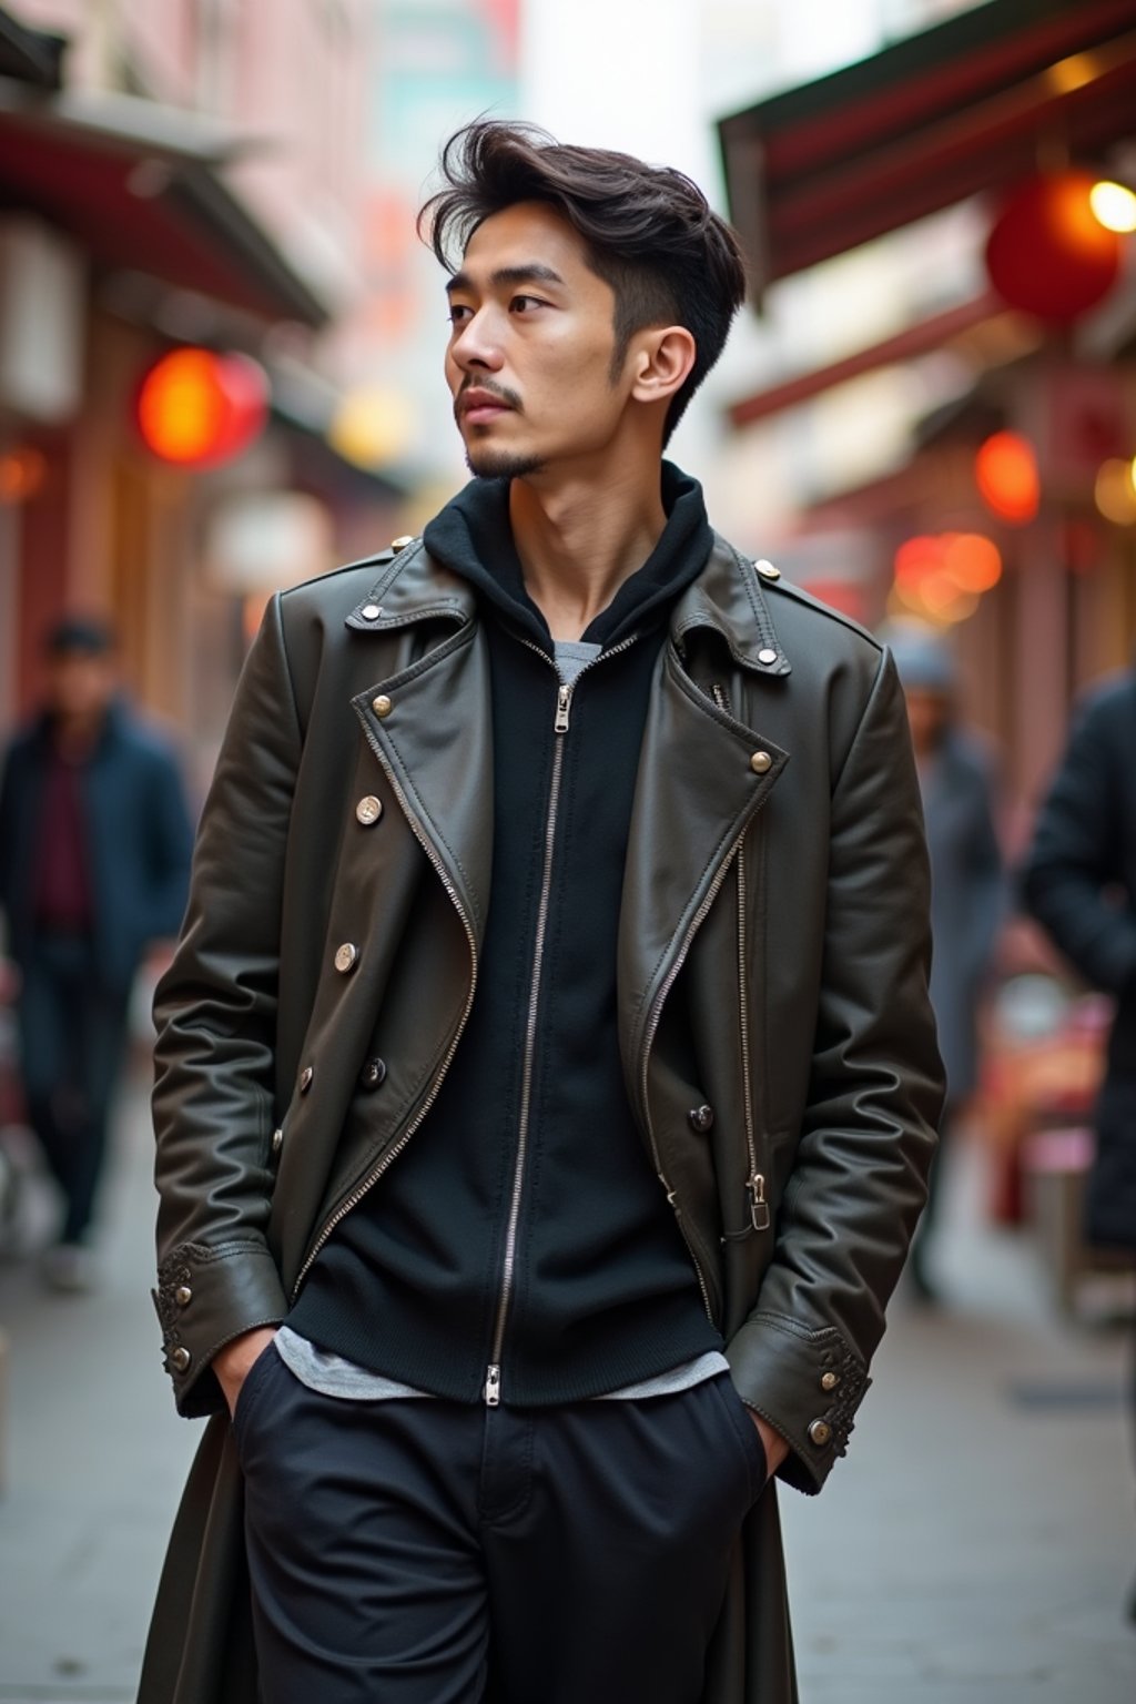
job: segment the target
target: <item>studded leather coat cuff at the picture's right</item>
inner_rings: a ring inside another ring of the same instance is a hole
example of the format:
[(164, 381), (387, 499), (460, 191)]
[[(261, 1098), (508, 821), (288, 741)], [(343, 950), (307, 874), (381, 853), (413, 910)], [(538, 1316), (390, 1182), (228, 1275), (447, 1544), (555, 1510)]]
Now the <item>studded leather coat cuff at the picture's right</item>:
[(743, 1401), (790, 1445), (778, 1477), (819, 1491), (848, 1450), (872, 1382), (860, 1356), (835, 1326), (811, 1331), (783, 1314), (758, 1312), (727, 1343), (726, 1358)]

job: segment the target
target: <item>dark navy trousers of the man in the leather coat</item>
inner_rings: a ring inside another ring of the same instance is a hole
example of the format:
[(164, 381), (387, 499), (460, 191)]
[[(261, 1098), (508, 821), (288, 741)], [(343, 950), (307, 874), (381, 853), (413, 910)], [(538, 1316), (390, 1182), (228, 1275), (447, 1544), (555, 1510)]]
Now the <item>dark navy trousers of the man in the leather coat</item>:
[(729, 1377), (550, 1409), (237, 1402), (262, 1704), (698, 1704), (761, 1438)]

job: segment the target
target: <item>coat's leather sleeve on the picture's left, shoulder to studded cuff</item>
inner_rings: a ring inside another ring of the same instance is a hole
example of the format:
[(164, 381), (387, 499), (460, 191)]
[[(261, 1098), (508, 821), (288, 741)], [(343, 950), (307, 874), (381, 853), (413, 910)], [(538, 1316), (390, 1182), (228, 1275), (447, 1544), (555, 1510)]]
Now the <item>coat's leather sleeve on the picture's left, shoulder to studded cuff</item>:
[(249, 653), (155, 995), (165, 1367), (182, 1414), (223, 1406), (213, 1355), (286, 1312), (266, 1242), (284, 849), (300, 760), (279, 598)]

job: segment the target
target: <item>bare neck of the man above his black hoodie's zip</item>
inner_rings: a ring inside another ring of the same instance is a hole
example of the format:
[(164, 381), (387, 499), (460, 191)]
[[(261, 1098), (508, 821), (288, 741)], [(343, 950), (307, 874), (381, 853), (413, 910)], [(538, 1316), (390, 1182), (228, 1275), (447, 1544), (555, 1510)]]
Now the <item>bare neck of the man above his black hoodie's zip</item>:
[(513, 542), (525, 590), (554, 639), (576, 641), (635, 574), (666, 527), (659, 463), (649, 477), (514, 479)]

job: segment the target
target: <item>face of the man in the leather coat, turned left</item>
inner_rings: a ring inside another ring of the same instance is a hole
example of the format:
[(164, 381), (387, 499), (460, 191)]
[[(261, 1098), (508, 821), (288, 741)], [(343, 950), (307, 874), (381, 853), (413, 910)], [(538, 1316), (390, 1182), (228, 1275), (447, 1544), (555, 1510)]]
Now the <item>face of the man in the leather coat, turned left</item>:
[(521, 479), (603, 457), (630, 360), (613, 377), (615, 291), (567, 220), (540, 201), (496, 213), (446, 288), (446, 382), (470, 472)]

